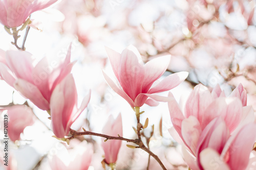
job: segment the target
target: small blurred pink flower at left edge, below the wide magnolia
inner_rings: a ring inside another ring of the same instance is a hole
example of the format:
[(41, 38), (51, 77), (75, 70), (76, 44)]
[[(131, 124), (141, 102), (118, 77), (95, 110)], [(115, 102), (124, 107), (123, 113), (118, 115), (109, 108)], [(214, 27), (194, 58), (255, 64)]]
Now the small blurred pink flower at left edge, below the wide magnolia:
[(8, 115), (8, 136), (12, 141), (20, 139), (20, 133), (27, 126), (34, 124), (34, 113), (26, 105), (14, 105), (0, 109), (0, 112), (7, 110)]

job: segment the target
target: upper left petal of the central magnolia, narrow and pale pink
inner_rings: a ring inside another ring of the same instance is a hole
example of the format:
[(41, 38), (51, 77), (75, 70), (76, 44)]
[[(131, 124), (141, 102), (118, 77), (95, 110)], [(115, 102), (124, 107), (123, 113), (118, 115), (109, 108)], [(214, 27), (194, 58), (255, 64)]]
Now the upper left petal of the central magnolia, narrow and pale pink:
[(112, 50), (106, 46), (105, 46), (105, 50), (109, 56), (110, 64), (113, 68), (116, 78), (119, 81), (119, 65), (120, 65), (120, 61), (121, 61), (121, 54), (115, 52), (114, 50)]

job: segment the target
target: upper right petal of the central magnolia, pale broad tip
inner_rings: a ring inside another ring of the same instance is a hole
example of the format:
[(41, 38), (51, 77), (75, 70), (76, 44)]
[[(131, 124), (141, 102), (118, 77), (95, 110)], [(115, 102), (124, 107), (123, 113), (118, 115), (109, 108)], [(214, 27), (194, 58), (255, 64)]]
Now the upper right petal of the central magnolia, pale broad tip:
[(170, 62), (170, 55), (157, 57), (144, 65), (145, 78), (142, 85), (142, 93), (147, 93), (152, 84), (165, 72)]

